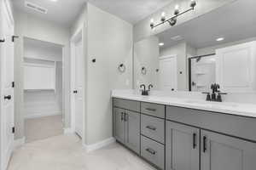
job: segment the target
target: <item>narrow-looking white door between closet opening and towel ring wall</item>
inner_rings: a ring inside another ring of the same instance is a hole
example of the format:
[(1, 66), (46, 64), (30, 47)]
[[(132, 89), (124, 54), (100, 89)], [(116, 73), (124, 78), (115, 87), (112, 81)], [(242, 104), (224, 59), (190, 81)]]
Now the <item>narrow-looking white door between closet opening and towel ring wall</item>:
[(75, 132), (83, 132), (83, 48), (82, 41), (75, 43)]

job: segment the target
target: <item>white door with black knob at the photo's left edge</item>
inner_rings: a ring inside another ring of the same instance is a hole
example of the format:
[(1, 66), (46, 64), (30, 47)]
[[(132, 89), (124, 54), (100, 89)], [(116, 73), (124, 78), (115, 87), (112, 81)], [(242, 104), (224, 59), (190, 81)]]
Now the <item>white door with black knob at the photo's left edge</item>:
[[(3, 2), (3, 1), (1, 1)], [(5, 2), (6, 3), (6, 2)], [(1, 169), (5, 170), (11, 156), (14, 143), (14, 25), (11, 13), (6, 4), (0, 5), (1, 13), (1, 35), (4, 42), (0, 42), (0, 86), (1, 86)]]

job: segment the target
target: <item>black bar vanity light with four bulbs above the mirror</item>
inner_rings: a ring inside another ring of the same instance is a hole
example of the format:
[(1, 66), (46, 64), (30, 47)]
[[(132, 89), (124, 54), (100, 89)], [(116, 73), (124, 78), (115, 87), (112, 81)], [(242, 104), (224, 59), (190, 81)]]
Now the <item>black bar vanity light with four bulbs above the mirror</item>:
[(187, 10), (185, 10), (185, 11), (183, 11), (182, 13), (180, 13), (180, 11), (179, 11), (179, 5), (176, 5), (176, 6), (175, 6), (175, 9), (174, 9), (174, 16), (172, 16), (170, 19), (167, 19), (167, 20), (166, 20), (166, 13), (163, 12), (163, 13), (161, 14), (160, 23), (158, 23), (158, 24), (155, 25), (155, 24), (154, 24), (154, 19), (151, 19), (151, 20), (150, 20), (150, 27), (151, 27), (151, 29), (154, 29), (154, 28), (157, 27), (157, 26), (160, 26), (160, 25), (162, 25), (162, 24), (165, 24), (166, 22), (168, 22), (168, 23), (170, 24), (170, 26), (175, 26), (176, 23), (177, 23), (177, 17), (179, 17), (179, 16), (181, 16), (181, 15), (183, 15), (183, 14), (186, 14), (186, 13), (188, 13), (188, 12), (191, 11), (191, 10), (194, 10), (194, 9), (195, 9), (195, 5), (196, 5), (195, 0), (191, 0), (191, 2), (190, 2), (190, 8), (187, 9)]

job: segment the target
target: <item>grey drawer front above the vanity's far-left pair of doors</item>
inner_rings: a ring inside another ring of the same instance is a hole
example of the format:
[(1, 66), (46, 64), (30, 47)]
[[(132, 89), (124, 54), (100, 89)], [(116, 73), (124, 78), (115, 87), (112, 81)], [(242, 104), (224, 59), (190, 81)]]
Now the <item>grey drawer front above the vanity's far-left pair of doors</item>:
[(140, 102), (129, 99), (113, 98), (113, 106), (123, 108), (130, 111), (140, 111)]

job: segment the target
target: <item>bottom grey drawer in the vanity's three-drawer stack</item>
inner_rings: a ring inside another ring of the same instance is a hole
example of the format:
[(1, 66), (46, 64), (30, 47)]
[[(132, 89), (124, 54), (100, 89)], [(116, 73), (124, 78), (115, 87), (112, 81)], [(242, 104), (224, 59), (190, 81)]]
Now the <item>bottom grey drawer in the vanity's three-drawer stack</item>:
[(141, 136), (141, 156), (160, 169), (165, 169), (165, 146)]

